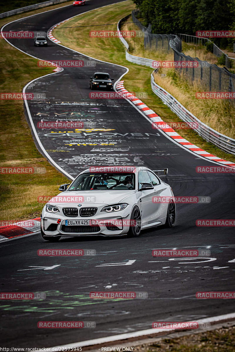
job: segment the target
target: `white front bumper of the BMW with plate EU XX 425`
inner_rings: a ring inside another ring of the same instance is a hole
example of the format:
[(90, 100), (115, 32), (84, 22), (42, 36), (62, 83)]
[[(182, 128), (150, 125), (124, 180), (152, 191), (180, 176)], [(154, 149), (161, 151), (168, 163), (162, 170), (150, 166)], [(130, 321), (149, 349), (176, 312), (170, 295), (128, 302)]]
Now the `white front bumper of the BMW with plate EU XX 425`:
[[(103, 205), (104, 206), (104, 205)], [(125, 209), (116, 213), (98, 212), (94, 216), (88, 217), (68, 217), (62, 212), (48, 213), (44, 209), (41, 215), (41, 225), (43, 233), (46, 236), (117, 236), (124, 235), (129, 231), (131, 206), (128, 205)], [(58, 219), (61, 220), (57, 224)], [(93, 226), (76, 225), (76, 220), (91, 219)], [(65, 225), (66, 220), (72, 220), (74, 225)], [(108, 221), (108, 224), (105, 224)]]

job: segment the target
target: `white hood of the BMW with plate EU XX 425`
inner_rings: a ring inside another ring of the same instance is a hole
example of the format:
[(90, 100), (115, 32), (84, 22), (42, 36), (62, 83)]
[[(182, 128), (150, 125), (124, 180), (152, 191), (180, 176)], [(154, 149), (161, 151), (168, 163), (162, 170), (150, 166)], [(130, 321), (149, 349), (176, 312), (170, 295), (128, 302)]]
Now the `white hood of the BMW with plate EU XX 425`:
[[(51, 205), (61, 206), (78, 206), (79, 203), (82, 205), (92, 206), (93, 204), (111, 205), (120, 203), (124, 198), (135, 194), (135, 190), (97, 190), (97, 191), (64, 191), (54, 196), (48, 202)], [(77, 197), (76, 199), (71, 199)], [(80, 197), (80, 199), (78, 198)], [(83, 198), (82, 198), (83, 197)], [(87, 200), (90, 197), (90, 201)], [(84, 200), (83, 200), (84, 199)], [(66, 201), (67, 200), (67, 201)], [(71, 200), (71, 201), (70, 201)]]

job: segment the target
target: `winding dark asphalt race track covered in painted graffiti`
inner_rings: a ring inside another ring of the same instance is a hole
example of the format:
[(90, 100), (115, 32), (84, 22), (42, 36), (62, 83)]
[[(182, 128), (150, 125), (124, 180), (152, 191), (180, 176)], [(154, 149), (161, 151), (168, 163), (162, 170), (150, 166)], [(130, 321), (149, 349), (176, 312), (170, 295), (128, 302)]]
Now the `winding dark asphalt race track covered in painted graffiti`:
[[(19, 20), (4, 30), (48, 29), (76, 13), (110, 3), (113, 0), (98, 3), (91, 0), (81, 8), (65, 7)], [(52, 42), (47, 48), (36, 48), (30, 40), (11, 42), (41, 59), (87, 59)], [(125, 68), (97, 61), (95, 71), (110, 72), (117, 80), (125, 73)], [(196, 166), (215, 164), (157, 133), (126, 100), (91, 101), (88, 83), (93, 72), (94, 69), (65, 68), (40, 78), (26, 90), (44, 92), (50, 98), (47, 102), (29, 102), (35, 126), (40, 121), (38, 117), (41, 118), (38, 112), (49, 112), (49, 116), (42, 116), (50, 121), (56, 121), (58, 115), (55, 113), (74, 112), (79, 120), (95, 121), (99, 128), (113, 129), (111, 135), (97, 131), (87, 136), (73, 131), (74, 134), (61, 133), (61, 136), (54, 134), (52, 137), (51, 130), (37, 130), (53, 160), (72, 177), (90, 165), (168, 167), (169, 174), (162, 179), (171, 184), (176, 196), (210, 196), (211, 202), (177, 205), (174, 228), (146, 230), (138, 238), (64, 238), (53, 244), (44, 242), (41, 234), (36, 233), (2, 243), (1, 291), (43, 291), (47, 294), (47, 299), (40, 301), (1, 302), (1, 344), (4, 347), (50, 347), (149, 329), (154, 321), (196, 321), (234, 311), (231, 299), (200, 300), (195, 297), (197, 291), (235, 291), (235, 262), (229, 262), (235, 258), (233, 227), (195, 225), (197, 219), (234, 219), (234, 176), (197, 174)], [(69, 103), (64, 105), (62, 102)], [(68, 115), (60, 116), (68, 118)], [(77, 145), (82, 144), (81, 141), (116, 144)], [(151, 255), (153, 249), (183, 247), (210, 249), (210, 258), (171, 260), (173, 258), (153, 258)], [(95, 249), (97, 255), (81, 258), (37, 255), (38, 249), (64, 248)], [(127, 265), (129, 260), (134, 262)], [(59, 266), (50, 270), (34, 268), (54, 265)], [(94, 290), (147, 291), (148, 299), (93, 300), (89, 298), (89, 292)], [(38, 321), (52, 320), (95, 321), (96, 328), (38, 329)]]

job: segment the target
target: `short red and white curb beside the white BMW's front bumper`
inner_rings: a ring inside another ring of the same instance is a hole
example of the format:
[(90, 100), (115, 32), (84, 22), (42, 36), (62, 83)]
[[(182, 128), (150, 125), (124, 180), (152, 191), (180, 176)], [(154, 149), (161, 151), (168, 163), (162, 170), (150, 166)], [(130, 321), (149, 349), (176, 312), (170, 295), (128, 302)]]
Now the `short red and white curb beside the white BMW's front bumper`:
[(0, 241), (37, 232), (40, 230), (40, 221), (40, 218), (35, 218), (0, 226)]

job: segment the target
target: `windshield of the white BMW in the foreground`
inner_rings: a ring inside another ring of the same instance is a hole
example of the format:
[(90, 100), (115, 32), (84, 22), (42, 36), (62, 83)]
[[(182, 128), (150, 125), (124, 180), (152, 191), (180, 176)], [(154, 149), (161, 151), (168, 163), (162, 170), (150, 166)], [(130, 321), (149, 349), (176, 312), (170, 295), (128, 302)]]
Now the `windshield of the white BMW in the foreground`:
[(135, 174), (82, 174), (68, 188), (68, 191), (88, 190), (131, 190), (135, 186)]

